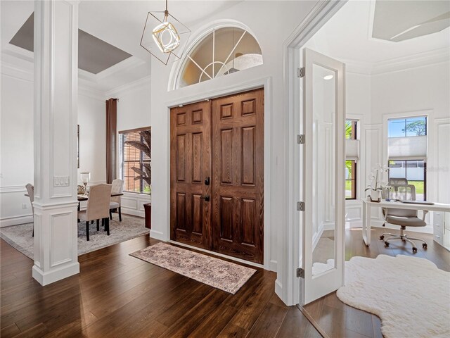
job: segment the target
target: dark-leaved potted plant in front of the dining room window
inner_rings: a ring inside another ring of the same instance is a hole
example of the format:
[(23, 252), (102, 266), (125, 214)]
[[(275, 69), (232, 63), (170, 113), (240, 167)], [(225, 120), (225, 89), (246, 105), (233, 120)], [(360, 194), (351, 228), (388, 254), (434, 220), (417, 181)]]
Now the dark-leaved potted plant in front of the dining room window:
[[(125, 141), (125, 144), (129, 144), (130, 146), (134, 146), (134, 148), (140, 150), (145, 154), (148, 158), (152, 158), (152, 150), (151, 150), (151, 136), (152, 133), (150, 130), (142, 130), (139, 132), (143, 141)], [(142, 168), (131, 167), (136, 174), (134, 180), (144, 180), (148, 184), (148, 194), (152, 193), (152, 168), (150, 163), (142, 163)], [(152, 214), (152, 204), (146, 203), (143, 205), (144, 211), (146, 213), (146, 227), (151, 228), (151, 214)]]

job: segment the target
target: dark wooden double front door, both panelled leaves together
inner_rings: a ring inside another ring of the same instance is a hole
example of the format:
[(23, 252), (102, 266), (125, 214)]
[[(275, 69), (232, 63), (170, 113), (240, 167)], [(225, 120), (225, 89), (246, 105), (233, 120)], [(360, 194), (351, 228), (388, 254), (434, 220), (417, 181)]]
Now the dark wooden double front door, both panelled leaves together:
[(264, 89), (172, 108), (171, 239), (263, 263)]

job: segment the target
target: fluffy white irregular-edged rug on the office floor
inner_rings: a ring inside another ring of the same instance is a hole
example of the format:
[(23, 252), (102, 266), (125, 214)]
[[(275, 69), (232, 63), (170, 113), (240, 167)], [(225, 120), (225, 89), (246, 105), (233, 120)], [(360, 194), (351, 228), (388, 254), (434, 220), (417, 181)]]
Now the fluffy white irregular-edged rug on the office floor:
[(450, 337), (450, 273), (424, 258), (353, 257), (337, 295), (378, 315), (385, 338)]

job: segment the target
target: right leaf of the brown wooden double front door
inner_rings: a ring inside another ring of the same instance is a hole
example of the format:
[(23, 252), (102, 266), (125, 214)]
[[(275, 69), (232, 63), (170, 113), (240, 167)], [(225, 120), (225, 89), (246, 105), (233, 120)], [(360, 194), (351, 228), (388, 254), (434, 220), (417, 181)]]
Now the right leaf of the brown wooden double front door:
[(212, 247), (263, 262), (264, 89), (212, 101)]

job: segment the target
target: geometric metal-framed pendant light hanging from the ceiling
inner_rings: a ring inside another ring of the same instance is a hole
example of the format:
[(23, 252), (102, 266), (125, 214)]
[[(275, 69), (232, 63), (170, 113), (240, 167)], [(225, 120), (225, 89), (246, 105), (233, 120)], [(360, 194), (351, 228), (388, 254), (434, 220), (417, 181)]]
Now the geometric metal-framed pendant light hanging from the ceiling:
[(169, 14), (166, 0), (165, 11), (148, 12), (141, 46), (167, 65), (171, 55), (172, 59), (181, 58), (189, 35), (191, 30)]

